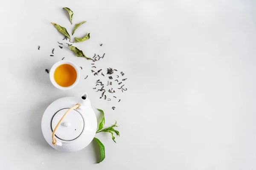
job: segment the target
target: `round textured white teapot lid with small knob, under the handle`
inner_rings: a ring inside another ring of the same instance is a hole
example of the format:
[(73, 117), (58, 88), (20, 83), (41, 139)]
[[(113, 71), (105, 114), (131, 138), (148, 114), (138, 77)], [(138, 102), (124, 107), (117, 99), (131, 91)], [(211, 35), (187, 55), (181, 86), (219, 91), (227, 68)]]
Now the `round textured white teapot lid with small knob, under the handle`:
[[(61, 109), (52, 118), (52, 130), (56, 127), (59, 120), (67, 112), (68, 108)], [(55, 136), (65, 141), (71, 141), (78, 138), (84, 129), (84, 119), (81, 114), (72, 110), (65, 117), (61, 125), (58, 127)]]

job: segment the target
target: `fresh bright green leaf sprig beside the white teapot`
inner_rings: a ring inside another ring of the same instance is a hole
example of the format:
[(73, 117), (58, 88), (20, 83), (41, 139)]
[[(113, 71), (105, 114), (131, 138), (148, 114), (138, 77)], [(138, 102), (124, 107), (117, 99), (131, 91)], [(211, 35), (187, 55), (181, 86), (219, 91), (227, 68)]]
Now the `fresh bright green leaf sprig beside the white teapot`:
[[(116, 126), (116, 123), (115, 123), (113, 126), (103, 129), (103, 127), (105, 125), (105, 114), (104, 114), (104, 111), (102, 111), (101, 109), (97, 109), (97, 110), (103, 114), (103, 117), (102, 117), (102, 121), (99, 123), (99, 128), (96, 131), (96, 133), (109, 132), (112, 135), (112, 140), (116, 143), (115, 136), (113, 135), (113, 133), (116, 133), (117, 136), (120, 136), (119, 131), (114, 129), (114, 127), (118, 127), (118, 126)], [(102, 144), (102, 142), (100, 142), (99, 139), (97, 139), (95, 137), (94, 137), (94, 139), (98, 142), (99, 147), (100, 147), (101, 159), (99, 162), (96, 162), (96, 163), (100, 163), (101, 161), (103, 161), (105, 159), (105, 146), (104, 146), (104, 144)]]

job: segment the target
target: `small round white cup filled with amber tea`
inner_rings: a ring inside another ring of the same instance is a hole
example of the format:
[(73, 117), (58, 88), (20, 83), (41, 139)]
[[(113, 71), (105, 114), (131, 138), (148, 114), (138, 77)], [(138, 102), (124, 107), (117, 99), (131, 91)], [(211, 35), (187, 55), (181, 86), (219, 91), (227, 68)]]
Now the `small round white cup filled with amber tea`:
[(61, 90), (73, 88), (79, 81), (79, 68), (71, 61), (56, 62), (49, 73), (52, 85)]

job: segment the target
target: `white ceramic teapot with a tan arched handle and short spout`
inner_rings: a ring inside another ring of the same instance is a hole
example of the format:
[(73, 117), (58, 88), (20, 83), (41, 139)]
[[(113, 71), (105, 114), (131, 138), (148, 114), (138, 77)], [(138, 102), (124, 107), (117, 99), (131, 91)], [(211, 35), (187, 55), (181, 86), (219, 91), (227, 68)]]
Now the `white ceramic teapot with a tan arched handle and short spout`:
[(56, 150), (75, 152), (86, 147), (97, 130), (88, 95), (63, 97), (52, 102), (44, 112), (41, 127), (45, 140)]

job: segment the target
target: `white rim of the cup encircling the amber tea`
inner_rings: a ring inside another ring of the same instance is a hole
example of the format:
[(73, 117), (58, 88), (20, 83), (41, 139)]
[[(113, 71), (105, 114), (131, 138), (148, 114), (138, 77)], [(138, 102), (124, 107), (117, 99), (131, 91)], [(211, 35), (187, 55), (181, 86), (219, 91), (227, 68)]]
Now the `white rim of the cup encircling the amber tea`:
[[(58, 66), (63, 65), (63, 64), (72, 65), (73, 68), (75, 68), (75, 70), (76, 70), (76, 81), (73, 83), (73, 85), (70, 85), (69, 87), (62, 87), (62, 86), (58, 85), (54, 79), (54, 72), (55, 72), (56, 68), (58, 68)], [(74, 62), (71, 62), (68, 60), (61, 60), (61, 61), (56, 62), (54, 65), (52, 65), (52, 68), (50, 69), (50, 72), (49, 72), (49, 77), (52, 82), (52, 85), (54, 85), (55, 88), (58, 88), (61, 90), (69, 90), (69, 89), (75, 87), (76, 84), (78, 83), (79, 78), (80, 78), (80, 72), (79, 72), (79, 68), (77, 67), (77, 65)]]

